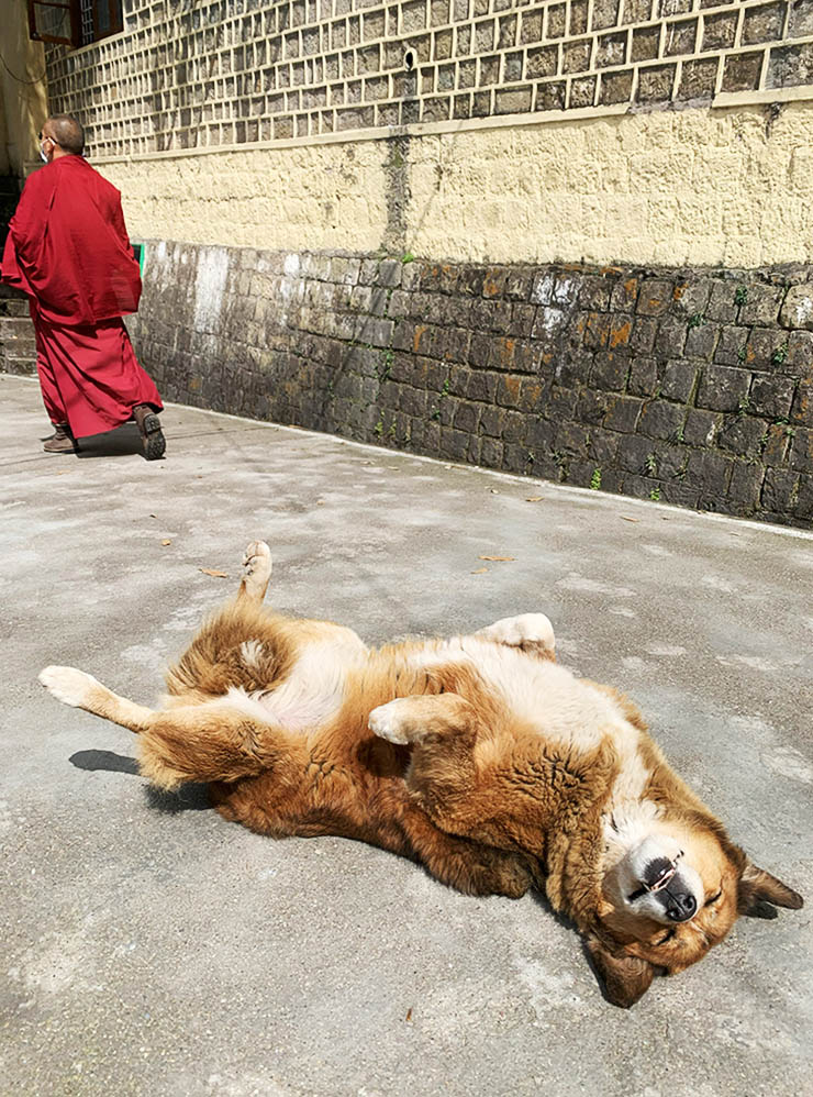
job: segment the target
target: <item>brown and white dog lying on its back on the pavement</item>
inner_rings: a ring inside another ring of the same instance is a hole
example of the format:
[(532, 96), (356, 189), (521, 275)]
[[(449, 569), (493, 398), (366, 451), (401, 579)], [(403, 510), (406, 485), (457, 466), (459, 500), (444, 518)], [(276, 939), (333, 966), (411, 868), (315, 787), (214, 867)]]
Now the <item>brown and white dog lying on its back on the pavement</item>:
[(469, 894), (539, 886), (619, 1006), (702, 959), (738, 915), (802, 906), (672, 773), (634, 705), (556, 664), (543, 614), (371, 650), (265, 610), (270, 574), (254, 542), (236, 599), (169, 669), (163, 709), (71, 667), (40, 680), (136, 732), (154, 784), (208, 782), (252, 830), (360, 839)]

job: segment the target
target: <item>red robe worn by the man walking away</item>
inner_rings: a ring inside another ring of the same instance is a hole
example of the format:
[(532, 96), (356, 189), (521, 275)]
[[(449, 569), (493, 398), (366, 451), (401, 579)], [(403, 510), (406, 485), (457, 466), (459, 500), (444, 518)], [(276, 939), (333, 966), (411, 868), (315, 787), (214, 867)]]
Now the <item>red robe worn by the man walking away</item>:
[(53, 423), (86, 437), (119, 426), (137, 405), (163, 409), (121, 319), (141, 297), (121, 196), (81, 156), (60, 156), (29, 177), (0, 278), (29, 295)]

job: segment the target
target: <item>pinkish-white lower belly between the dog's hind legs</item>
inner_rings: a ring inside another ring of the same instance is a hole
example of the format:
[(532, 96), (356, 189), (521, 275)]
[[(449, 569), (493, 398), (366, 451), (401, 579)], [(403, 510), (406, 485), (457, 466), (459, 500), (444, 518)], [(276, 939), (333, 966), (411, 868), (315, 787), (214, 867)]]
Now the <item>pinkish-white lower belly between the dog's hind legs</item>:
[(226, 698), (255, 719), (304, 734), (338, 713), (348, 672), (363, 665), (366, 655), (367, 649), (353, 633), (346, 641), (331, 638), (309, 644), (278, 686), (253, 692), (232, 688)]

